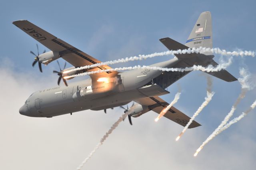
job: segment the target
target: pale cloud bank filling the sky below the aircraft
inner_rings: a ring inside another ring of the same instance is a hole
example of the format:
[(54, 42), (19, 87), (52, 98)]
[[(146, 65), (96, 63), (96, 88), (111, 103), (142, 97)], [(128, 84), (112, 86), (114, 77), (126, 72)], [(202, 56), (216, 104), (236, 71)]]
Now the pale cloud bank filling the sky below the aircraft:
[[(33, 77), (32, 73), (17, 73), (8, 65), (2, 65), (0, 71), (0, 169), (75, 169), (123, 113), (115, 108), (108, 114), (88, 110), (50, 119), (25, 117), (18, 109), (26, 98), (37, 89), (55, 86), (56, 77)], [(218, 103), (212, 105), (211, 109), (218, 107)], [(238, 170), (256, 166), (254, 132), (242, 128), (252, 125), (253, 119), (246, 117), (237, 123), (239, 130), (236, 126), (226, 130), (195, 159), (194, 150), (210, 133), (208, 123), (188, 130), (177, 143), (175, 137), (182, 127), (164, 118), (155, 123), (155, 117), (156, 113), (150, 111), (133, 119), (133, 126), (128, 120), (120, 123), (83, 169)]]

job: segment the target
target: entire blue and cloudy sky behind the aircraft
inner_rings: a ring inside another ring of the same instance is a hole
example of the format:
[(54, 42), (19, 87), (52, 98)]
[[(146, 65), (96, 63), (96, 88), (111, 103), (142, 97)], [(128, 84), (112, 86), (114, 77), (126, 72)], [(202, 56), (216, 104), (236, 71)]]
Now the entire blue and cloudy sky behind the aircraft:
[[(100, 138), (120, 117), (123, 110), (81, 111), (47, 118), (25, 117), (18, 113), (28, 96), (39, 89), (53, 87), (58, 76), (56, 62), (32, 67), (30, 50), (36, 52), (36, 41), (12, 24), (29, 20), (54, 36), (92, 55), (100, 61), (166, 51), (160, 38), (170, 37), (185, 43), (201, 12), (212, 13), (213, 46), (233, 51), (256, 50), (256, 11), (254, 0), (238, 1), (4, 1), (0, 6), (0, 169), (70, 170), (88, 156)], [(44, 49), (41, 44), (40, 52)], [(111, 65), (126, 67), (150, 65), (173, 56), (155, 57)], [(215, 55), (218, 62), (220, 55)], [(225, 57), (225, 56), (224, 56)], [(64, 60), (59, 59), (61, 65)], [(239, 77), (239, 68), (246, 68), (256, 80), (255, 58), (234, 57), (227, 70)], [(71, 65), (68, 64), (71, 67)], [(174, 106), (192, 116), (206, 97), (206, 74), (193, 71), (172, 86), (174, 99), (178, 84), (182, 94)], [(77, 77), (78, 81), (88, 77)], [(234, 124), (194, 158), (200, 144), (218, 127), (240, 93), (238, 81), (227, 83), (213, 77), (212, 101), (196, 117), (202, 126), (189, 129), (180, 141), (175, 138), (183, 127), (150, 111), (141, 117), (120, 123), (100, 146), (84, 169), (198, 169), (240, 170), (256, 166), (255, 111)], [(240, 115), (256, 99), (256, 91), (247, 93), (234, 116)]]

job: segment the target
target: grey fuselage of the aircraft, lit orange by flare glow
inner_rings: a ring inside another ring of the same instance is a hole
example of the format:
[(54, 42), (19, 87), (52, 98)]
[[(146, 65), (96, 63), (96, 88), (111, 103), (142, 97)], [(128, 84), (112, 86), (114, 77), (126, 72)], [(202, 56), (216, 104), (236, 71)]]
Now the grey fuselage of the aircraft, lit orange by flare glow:
[[(151, 66), (170, 68), (178, 62), (178, 58), (174, 57)], [(118, 73), (118, 81), (105, 83), (89, 78), (69, 83), (68, 87), (63, 85), (43, 89), (28, 97), (20, 113), (30, 117), (54, 117), (87, 109), (102, 110), (125, 105), (135, 99), (150, 97), (140, 93), (138, 88), (162, 73), (159, 70), (134, 69)]]

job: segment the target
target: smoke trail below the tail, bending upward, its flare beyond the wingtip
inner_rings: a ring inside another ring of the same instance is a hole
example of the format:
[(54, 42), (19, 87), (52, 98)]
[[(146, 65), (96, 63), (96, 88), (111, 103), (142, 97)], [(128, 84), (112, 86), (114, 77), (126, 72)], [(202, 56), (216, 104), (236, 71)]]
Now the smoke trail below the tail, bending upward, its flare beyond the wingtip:
[(212, 97), (214, 95), (214, 92), (212, 92), (212, 79), (210, 76), (207, 76), (207, 97), (205, 97), (205, 101), (202, 103), (202, 105), (197, 109), (197, 111), (194, 113), (194, 115), (191, 117), (187, 125), (184, 127), (182, 132), (179, 134), (179, 136), (176, 138), (176, 141), (180, 139), (182, 134), (186, 132), (188, 127), (191, 125), (191, 123), (194, 121), (194, 119), (199, 115), (199, 113), (208, 105), (208, 103), (212, 100)]

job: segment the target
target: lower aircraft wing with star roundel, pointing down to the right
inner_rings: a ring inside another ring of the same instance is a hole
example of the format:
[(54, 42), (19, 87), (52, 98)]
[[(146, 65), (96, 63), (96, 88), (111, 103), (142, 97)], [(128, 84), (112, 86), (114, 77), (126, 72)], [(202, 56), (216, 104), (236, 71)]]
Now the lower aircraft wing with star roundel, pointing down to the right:
[[(161, 111), (169, 105), (169, 103), (167, 103), (160, 97), (147, 97), (134, 101), (136, 103), (139, 103), (140, 105), (148, 106), (148, 109), (158, 114), (160, 114)], [(173, 106), (166, 112), (164, 117), (170, 119), (171, 121), (174, 121), (175, 123), (178, 123), (179, 125), (182, 125), (183, 127), (185, 127), (190, 120), (190, 117), (188, 117), (187, 115), (185, 115)], [(201, 126), (199, 123), (193, 121), (188, 128), (195, 128), (199, 126)]]

